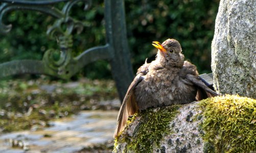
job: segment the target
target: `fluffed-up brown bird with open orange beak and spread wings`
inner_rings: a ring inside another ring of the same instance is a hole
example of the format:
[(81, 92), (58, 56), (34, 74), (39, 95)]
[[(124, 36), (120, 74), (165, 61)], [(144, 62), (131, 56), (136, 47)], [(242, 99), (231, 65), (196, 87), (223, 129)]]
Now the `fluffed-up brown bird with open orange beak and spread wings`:
[(146, 59), (138, 68), (120, 107), (113, 138), (124, 130), (128, 117), (139, 111), (219, 95), (199, 79), (195, 65), (184, 61), (177, 40), (153, 41), (152, 45), (158, 49), (156, 59), (151, 63)]

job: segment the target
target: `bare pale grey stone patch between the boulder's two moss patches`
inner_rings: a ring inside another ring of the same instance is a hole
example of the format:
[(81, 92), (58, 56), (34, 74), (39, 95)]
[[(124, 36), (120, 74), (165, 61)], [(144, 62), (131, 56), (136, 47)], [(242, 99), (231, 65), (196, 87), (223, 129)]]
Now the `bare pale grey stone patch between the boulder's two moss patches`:
[(180, 114), (170, 122), (173, 133), (164, 137), (161, 150), (165, 150), (165, 152), (202, 152), (204, 143), (202, 143), (201, 131), (198, 126), (202, 122), (202, 118), (195, 117), (201, 113), (196, 104), (198, 102), (179, 109)]

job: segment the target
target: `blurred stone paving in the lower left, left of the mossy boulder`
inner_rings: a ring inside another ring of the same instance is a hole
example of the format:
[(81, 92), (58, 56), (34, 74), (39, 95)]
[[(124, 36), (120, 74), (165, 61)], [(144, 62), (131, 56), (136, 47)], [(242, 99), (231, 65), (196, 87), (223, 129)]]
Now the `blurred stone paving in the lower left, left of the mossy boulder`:
[(81, 111), (78, 115), (51, 121), (51, 127), (40, 131), (2, 134), (0, 152), (78, 152), (111, 142), (117, 115), (116, 110)]

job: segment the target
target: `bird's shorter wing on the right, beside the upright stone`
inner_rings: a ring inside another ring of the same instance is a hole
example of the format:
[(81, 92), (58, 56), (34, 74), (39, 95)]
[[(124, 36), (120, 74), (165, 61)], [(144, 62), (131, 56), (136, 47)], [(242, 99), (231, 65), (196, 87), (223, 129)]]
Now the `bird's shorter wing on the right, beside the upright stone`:
[(197, 88), (197, 100), (201, 100), (207, 97), (214, 97), (218, 96), (219, 94), (207, 87), (200, 79), (198, 76), (192, 75), (192, 74), (187, 74), (185, 77), (187, 80), (192, 82)]

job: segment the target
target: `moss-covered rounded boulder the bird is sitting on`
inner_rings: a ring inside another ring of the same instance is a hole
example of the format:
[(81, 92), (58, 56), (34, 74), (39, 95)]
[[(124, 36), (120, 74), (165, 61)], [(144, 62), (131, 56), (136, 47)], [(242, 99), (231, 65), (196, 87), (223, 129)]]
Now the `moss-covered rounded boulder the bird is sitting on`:
[(238, 95), (148, 109), (133, 117), (113, 152), (256, 150), (256, 100)]

